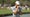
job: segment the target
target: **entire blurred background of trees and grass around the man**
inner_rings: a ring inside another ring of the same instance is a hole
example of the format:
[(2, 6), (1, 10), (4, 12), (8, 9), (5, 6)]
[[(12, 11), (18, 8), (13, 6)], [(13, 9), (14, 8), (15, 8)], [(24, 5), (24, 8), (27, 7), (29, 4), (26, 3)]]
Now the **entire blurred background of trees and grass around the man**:
[[(0, 16), (12, 15), (12, 10), (10, 7), (13, 7), (15, 5), (15, 1), (17, 0), (0, 0)], [(20, 1), (20, 6), (22, 6), (23, 14), (30, 16), (30, 0), (18, 1)]]

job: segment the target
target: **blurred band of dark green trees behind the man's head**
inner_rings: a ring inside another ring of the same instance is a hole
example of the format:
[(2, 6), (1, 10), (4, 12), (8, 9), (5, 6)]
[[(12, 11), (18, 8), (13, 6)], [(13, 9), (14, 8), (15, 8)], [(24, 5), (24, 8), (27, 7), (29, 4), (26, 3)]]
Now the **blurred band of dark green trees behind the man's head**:
[[(4, 4), (4, 6), (14, 6), (15, 1), (17, 1), (17, 0), (0, 0), (0, 4), (1, 4), (0, 6), (3, 6), (2, 4)], [(30, 6), (30, 0), (18, 0), (18, 1), (20, 1), (22, 6), (25, 4)]]

